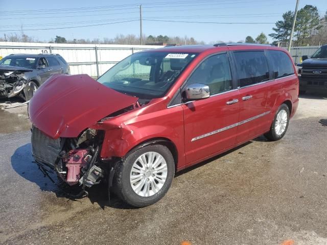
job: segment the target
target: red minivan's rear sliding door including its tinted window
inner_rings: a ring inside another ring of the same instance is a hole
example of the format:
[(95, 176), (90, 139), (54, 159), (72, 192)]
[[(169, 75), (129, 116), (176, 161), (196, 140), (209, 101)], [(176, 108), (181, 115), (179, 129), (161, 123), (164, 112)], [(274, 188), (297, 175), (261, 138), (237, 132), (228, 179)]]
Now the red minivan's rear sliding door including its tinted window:
[(252, 139), (269, 129), (267, 108), (270, 74), (265, 52), (234, 51), (240, 92), (240, 118), (237, 143)]

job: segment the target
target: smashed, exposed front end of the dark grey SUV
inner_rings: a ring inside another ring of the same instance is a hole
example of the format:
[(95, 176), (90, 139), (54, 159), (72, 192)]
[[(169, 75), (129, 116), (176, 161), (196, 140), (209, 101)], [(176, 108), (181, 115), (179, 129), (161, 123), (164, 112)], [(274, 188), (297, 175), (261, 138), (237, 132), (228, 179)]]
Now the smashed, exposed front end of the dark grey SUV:
[(0, 67), (0, 97), (11, 98), (21, 95), (26, 100), (26, 95), (22, 93), (24, 93), (23, 90), (28, 84), (28, 81), (24, 78), (27, 71), (32, 70)]

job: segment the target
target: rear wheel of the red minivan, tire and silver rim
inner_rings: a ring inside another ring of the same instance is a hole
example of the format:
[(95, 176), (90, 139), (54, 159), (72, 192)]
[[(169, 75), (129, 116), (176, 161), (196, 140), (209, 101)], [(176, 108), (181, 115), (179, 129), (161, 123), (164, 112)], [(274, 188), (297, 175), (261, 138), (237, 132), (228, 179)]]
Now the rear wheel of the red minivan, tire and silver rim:
[(274, 120), (271, 124), (270, 131), (265, 134), (266, 138), (276, 141), (284, 137), (290, 122), (290, 110), (286, 104), (279, 106)]

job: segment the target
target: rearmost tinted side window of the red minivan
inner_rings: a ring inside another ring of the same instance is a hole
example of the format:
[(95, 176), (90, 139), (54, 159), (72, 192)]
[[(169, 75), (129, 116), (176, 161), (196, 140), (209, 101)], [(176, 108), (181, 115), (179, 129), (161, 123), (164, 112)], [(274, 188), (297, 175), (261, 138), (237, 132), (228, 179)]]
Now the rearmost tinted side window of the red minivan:
[(293, 75), (293, 61), (283, 51), (268, 50), (267, 51), (269, 65), (272, 70), (272, 78), (283, 78), (289, 75)]

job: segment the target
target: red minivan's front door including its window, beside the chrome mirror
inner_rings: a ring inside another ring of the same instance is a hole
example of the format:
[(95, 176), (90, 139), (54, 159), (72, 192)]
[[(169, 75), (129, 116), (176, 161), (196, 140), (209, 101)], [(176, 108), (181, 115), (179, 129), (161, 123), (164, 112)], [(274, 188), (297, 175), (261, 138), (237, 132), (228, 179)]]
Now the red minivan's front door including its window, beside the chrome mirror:
[(208, 85), (211, 96), (182, 105), (186, 164), (235, 144), (240, 109), (227, 53), (211, 55), (202, 61), (183, 89), (194, 83)]

